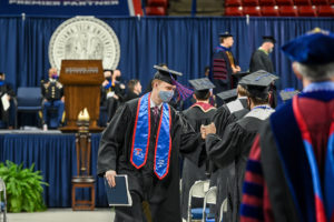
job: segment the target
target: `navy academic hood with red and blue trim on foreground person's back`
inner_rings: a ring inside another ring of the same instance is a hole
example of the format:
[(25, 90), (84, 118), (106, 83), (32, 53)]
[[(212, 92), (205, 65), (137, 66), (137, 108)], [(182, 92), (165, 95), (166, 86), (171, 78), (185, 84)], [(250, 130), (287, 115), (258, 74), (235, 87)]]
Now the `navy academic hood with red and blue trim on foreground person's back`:
[[(271, 117), (278, 155), (299, 220), (334, 221), (334, 117), (322, 180), (311, 133), (298, 108), (299, 99), (303, 99), (303, 102), (312, 100), (324, 104), (334, 101), (334, 91), (303, 92)], [(323, 107), (318, 105), (315, 109)]]

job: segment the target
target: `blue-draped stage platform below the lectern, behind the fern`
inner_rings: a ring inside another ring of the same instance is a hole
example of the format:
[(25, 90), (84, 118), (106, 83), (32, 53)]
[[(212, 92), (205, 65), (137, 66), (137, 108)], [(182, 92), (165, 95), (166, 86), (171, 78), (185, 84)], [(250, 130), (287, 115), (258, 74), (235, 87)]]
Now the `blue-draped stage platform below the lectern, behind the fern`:
[[(97, 178), (97, 153), (100, 133), (91, 134), (91, 174), (96, 182), (96, 206), (108, 206), (104, 180)], [(10, 160), (41, 171), (45, 182), (45, 202), (48, 208), (71, 206), (71, 178), (77, 174), (75, 133), (61, 133), (57, 130), (42, 131), (0, 130), (0, 162)], [(88, 198), (89, 191), (77, 191), (78, 199)]]

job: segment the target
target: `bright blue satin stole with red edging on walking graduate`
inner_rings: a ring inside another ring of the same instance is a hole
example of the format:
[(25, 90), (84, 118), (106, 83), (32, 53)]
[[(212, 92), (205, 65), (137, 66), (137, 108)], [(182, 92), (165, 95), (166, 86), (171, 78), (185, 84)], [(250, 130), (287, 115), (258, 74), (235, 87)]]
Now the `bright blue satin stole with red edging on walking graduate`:
[[(150, 93), (144, 94), (138, 100), (137, 114), (132, 134), (130, 161), (136, 169), (146, 164), (151, 137), (150, 118)], [(171, 115), (170, 108), (163, 103), (160, 119), (157, 128), (157, 139), (155, 144), (155, 174), (161, 180), (168, 174), (171, 138), (170, 138)]]

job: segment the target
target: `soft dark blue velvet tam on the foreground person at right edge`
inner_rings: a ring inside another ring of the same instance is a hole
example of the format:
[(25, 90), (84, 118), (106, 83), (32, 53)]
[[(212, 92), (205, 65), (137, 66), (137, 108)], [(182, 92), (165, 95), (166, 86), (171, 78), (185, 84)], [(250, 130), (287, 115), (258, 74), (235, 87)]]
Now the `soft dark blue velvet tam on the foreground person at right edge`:
[(291, 60), (305, 64), (334, 62), (334, 33), (315, 28), (282, 47)]

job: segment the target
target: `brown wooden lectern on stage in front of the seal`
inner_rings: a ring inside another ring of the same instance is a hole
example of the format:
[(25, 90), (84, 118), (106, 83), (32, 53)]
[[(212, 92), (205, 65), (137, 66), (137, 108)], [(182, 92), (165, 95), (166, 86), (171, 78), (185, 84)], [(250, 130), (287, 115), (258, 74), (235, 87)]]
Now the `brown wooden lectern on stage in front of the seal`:
[(104, 82), (101, 60), (62, 60), (59, 81), (63, 84), (67, 125), (62, 132), (78, 131), (77, 119), (87, 108), (90, 115), (89, 131), (99, 132), (100, 85)]

